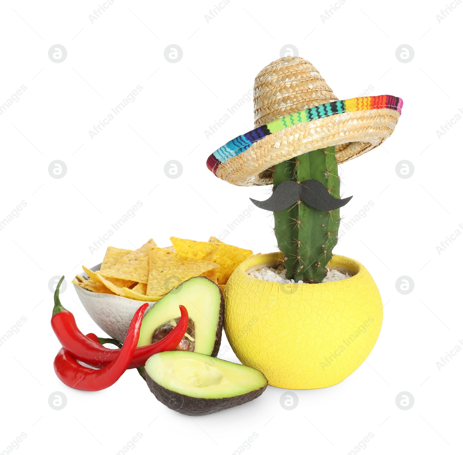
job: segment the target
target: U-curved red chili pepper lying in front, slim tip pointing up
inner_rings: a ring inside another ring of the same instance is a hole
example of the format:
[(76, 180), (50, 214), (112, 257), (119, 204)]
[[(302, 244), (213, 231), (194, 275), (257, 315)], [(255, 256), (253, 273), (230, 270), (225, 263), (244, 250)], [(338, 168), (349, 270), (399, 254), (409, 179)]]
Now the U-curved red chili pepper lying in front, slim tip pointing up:
[(135, 312), (124, 345), (121, 349), (118, 349), (117, 358), (107, 367), (100, 370), (83, 367), (66, 349), (62, 348), (56, 355), (55, 362), (53, 362), (58, 378), (69, 387), (92, 392), (112, 386), (129, 366), (137, 347), (140, 326), (147, 307), (148, 303), (144, 303)]

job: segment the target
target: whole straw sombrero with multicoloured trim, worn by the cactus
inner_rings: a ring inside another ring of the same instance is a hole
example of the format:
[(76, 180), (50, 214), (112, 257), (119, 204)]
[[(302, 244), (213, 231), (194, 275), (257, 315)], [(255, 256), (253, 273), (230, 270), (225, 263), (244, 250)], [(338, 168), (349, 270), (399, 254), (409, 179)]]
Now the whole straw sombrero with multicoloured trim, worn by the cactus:
[(394, 131), (402, 100), (366, 96), (338, 100), (312, 63), (283, 57), (254, 83), (255, 129), (216, 150), (207, 167), (239, 186), (270, 185), (275, 164), (335, 146), (338, 163), (380, 145)]

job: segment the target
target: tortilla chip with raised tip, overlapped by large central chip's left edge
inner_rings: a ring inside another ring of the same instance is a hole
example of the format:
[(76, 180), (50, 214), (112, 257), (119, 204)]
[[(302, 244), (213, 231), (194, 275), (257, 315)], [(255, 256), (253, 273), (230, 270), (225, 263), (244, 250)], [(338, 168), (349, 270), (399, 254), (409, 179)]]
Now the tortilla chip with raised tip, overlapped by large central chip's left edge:
[(148, 248), (156, 247), (151, 238), (142, 247), (125, 255), (117, 264), (106, 270), (100, 270), (105, 278), (119, 278), (121, 280), (148, 284)]

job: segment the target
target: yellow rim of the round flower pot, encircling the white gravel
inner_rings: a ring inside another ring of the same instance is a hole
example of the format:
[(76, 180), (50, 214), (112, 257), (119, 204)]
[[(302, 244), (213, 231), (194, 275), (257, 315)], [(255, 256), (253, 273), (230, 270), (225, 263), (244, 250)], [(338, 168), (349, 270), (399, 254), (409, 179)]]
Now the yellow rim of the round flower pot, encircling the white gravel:
[[(274, 285), (274, 286), (281, 286), (284, 284), (285, 286), (289, 287), (294, 287), (294, 286), (324, 286), (324, 287), (332, 287), (332, 286), (339, 286), (339, 283), (346, 283), (350, 280), (361, 280), (364, 275), (369, 274), (367, 269), (358, 261), (355, 259), (351, 259), (350, 257), (347, 256), (341, 256), (341, 255), (333, 255), (332, 259), (330, 262), (328, 262), (328, 265), (333, 261), (335, 263), (339, 263), (339, 265), (343, 264), (343, 267), (348, 269), (350, 272), (354, 273), (353, 276), (350, 278), (346, 278), (345, 280), (336, 280), (336, 281), (326, 281), (325, 283), (277, 283), (274, 281), (265, 281), (265, 280), (260, 280), (259, 278), (255, 278), (253, 276), (250, 276), (247, 273), (247, 270), (249, 270), (253, 266), (257, 265), (263, 265), (263, 264), (271, 264), (275, 263), (277, 260), (282, 259), (283, 253), (281, 251), (277, 251), (274, 253), (264, 253), (262, 255), (257, 255), (257, 256), (252, 256), (248, 259), (246, 259), (244, 262), (242, 262), (233, 272), (233, 274), (240, 274), (241, 276), (247, 277), (250, 280), (259, 280), (263, 281), (264, 283), (267, 283), (269, 285)], [(347, 263), (348, 265), (344, 265), (344, 263)], [(349, 267), (350, 266), (350, 267)], [(353, 267), (352, 267), (353, 266)], [(333, 266), (335, 268), (336, 266)], [(356, 268), (357, 270), (352, 270), (352, 268)]]

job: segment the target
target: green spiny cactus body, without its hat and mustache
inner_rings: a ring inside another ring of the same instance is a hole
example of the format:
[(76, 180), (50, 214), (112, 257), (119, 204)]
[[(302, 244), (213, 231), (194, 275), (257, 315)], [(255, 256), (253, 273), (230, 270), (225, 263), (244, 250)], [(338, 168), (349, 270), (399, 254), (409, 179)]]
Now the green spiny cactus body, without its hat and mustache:
[[(339, 199), (338, 163), (334, 146), (313, 150), (275, 165), (274, 189), (282, 181), (303, 183), (316, 179)], [(294, 206), (274, 212), (275, 236), (284, 254), (286, 277), (297, 283), (320, 283), (326, 264), (338, 243), (339, 209), (321, 211), (299, 200)]]

